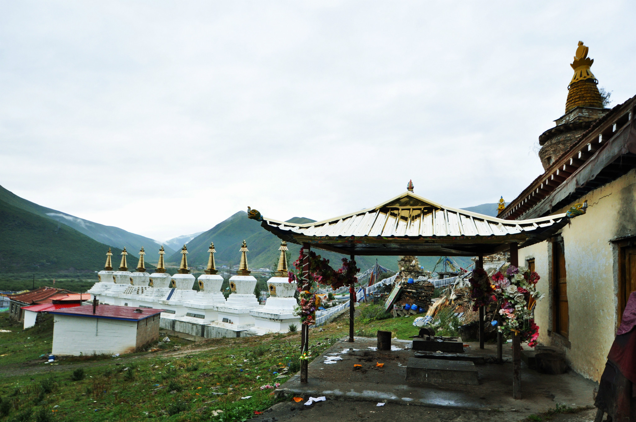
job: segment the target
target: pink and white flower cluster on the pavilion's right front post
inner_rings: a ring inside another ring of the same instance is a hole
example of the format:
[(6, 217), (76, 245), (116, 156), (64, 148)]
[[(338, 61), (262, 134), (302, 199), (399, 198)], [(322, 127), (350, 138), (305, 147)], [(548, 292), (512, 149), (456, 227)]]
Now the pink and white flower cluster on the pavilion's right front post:
[(532, 318), (532, 310), (537, 301), (545, 296), (536, 289), (540, 278), (534, 271), (524, 269), (522, 272), (513, 265), (508, 267), (505, 274), (497, 271), (492, 276), (495, 296), (498, 298), (497, 308), (502, 317), (498, 321), (499, 332), (515, 332), (521, 336), (521, 341), (528, 341), (530, 347), (536, 346), (539, 338), (539, 325)]

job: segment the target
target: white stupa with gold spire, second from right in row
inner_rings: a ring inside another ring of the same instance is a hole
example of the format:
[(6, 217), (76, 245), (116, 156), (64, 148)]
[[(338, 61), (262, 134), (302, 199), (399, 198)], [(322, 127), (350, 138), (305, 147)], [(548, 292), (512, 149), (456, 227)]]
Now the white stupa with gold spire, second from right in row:
[(230, 290), (232, 293), (228, 300), (222, 306), (216, 306), (219, 313), (218, 322), (234, 324), (235, 327), (251, 328), (254, 324), (254, 317), (249, 315), (249, 311), (261, 309), (262, 305), (258, 304), (258, 299), (254, 295), (254, 287), (256, 287), (256, 278), (249, 275), (247, 269), (247, 245), (245, 240), (240, 248), (241, 257), (239, 271), (237, 275), (230, 277)]

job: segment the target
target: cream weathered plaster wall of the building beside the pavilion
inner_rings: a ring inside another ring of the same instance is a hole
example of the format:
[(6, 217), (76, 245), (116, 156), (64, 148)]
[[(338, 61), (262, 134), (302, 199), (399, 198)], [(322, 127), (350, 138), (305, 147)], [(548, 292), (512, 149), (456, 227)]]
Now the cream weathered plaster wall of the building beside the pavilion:
[[(561, 233), (570, 318), (570, 344), (565, 353), (574, 371), (598, 381), (616, 333), (617, 254), (612, 240), (636, 235), (636, 170), (591, 191), (579, 201), (583, 200), (588, 200), (587, 213), (572, 219)], [(572, 205), (558, 212), (565, 212)], [(550, 244), (542, 242), (523, 248), (519, 255), (520, 261), (528, 257), (536, 259), (536, 269), (542, 277), (537, 289), (546, 292), (546, 298), (535, 311), (541, 343), (557, 346), (567, 343), (558, 334), (548, 336), (553, 303), (548, 284)]]

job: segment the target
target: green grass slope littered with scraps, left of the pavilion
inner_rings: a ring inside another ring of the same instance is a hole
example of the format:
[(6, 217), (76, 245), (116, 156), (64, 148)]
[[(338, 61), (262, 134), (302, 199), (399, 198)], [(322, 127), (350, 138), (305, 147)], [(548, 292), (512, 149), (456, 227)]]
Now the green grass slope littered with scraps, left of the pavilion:
[[(357, 310), (366, 306), (361, 304)], [(273, 390), (261, 390), (261, 386), (282, 384), (300, 367), (300, 335), (291, 333), (198, 343), (171, 337), (172, 341), (166, 343), (167, 350), (119, 358), (67, 358), (56, 362), (59, 371), (26, 372), (34, 366), (48, 367), (39, 355), (50, 351), (51, 323), (45, 320), (40, 327), (23, 332), (21, 325), (11, 323), (7, 317), (0, 318), (0, 327), (13, 332), (0, 333), (0, 344), (5, 350), (0, 367), (10, 372), (3, 374), (0, 381), (0, 407), (6, 402), (10, 404), (8, 421), (28, 412), (31, 412), (29, 421), (49, 413), (53, 420), (69, 422), (155, 418), (183, 422), (241, 421), (276, 402)], [(322, 327), (322, 332), (310, 330), (314, 357), (348, 334), (348, 319), (341, 318)], [(412, 322), (413, 318), (389, 318), (363, 324), (357, 318), (356, 329), (374, 337), (377, 330), (391, 330), (398, 338), (406, 339), (418, 332)], [(174, 349), (175, 345), (182, 348)], [(23, 365), (25, 362), (28, 364)], [(289, 367), (286, 377), (277, 379), (279, 374), (273, 372), (281, 372), (284, 367)], [(80, 368), (83, 378), (79, 376)], [(11, 371), (18, 374), (11, 375)], [(241, 399), (247, 396), (252, 397)], [(59, 407), (54, 408), (55, 405)], [(213, 416), (212, 412), (218, 410), (223, 412)]]

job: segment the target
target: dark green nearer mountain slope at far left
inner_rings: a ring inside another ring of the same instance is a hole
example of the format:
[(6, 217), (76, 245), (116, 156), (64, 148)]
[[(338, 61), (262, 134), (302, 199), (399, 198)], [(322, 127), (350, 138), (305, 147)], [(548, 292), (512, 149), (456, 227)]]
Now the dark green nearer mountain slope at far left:
[[(108, 246), (60, 222), (0, 200), (0, 272), (53, 272), (104, 268)], [(113, 248), (118, 265), (120, 249)], [(128, 267), (137, 258), (128, 255)]]

